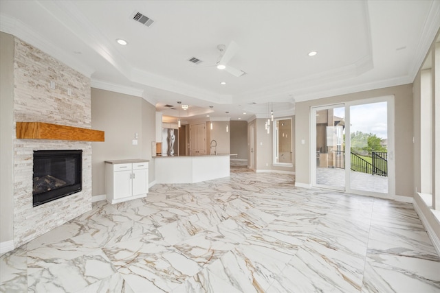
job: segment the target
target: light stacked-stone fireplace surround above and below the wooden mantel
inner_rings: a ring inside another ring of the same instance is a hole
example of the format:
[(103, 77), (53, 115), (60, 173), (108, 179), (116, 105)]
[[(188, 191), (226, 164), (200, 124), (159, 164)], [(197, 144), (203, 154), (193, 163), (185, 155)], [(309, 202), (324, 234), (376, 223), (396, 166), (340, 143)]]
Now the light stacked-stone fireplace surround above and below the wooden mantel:
[[(32, 45), (14, 38), (14, 121), (91, 128), (90, 79)], [(34, 207), (34, 152), (49, 150), (80, 150), (81, 187), (69, 196)], [(14, 139), (15, 247), (90, 209), (91, 142)]]

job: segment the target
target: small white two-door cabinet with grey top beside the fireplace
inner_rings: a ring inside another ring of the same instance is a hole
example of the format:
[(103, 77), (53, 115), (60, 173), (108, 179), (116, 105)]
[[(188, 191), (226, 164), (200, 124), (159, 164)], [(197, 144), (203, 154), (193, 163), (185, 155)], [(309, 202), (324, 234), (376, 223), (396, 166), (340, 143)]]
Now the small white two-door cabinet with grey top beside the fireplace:
[(148, 160), (105, 161), (107, 201), (114, 204), (148, 194)]

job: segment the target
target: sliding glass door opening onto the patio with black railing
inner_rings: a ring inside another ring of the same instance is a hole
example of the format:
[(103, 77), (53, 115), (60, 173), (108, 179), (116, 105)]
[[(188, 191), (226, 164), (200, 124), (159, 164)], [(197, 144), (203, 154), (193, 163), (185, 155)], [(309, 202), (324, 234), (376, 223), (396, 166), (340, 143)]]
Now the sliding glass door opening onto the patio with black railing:
[(311, 108), (312, 186), (393, 194), (393, 97)]

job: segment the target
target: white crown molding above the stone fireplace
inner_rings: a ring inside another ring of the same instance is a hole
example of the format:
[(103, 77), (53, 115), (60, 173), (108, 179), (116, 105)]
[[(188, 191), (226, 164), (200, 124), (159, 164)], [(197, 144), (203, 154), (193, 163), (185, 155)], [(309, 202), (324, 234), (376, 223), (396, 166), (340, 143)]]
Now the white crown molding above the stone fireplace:
[(67, 54), (59, 47), (54, 46), (49, 40), (45, 39), (41, 34), (35, 32), (31, 27), (26, 26), (18, 19), (0, 13), (0, 31), (12, 34), (12, 36), (29, 43), (56, 60), (63, 62), (68, 67), (87, 76), (87, 78), (90, 78), (91, 74), (95, 71), (77, 58), (74, 58), (73, 55)]

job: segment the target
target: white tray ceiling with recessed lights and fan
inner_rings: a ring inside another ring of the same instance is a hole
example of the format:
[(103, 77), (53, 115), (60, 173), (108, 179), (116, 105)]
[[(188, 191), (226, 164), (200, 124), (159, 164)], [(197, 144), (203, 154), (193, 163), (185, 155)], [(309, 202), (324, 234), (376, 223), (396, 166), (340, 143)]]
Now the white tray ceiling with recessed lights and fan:
[[(134, 12), (155, 23), (133, 21)], [(96, 88), (142, 96), (157, 110), (189, 104), (164, 110), (187, 119), (292, 115), (294, 102), (411, 83), (439, 27), (438, 0), (0, 1), (2, 32)], [(245, 71), (239, 78), (214, 66), (217, 45), (232, 40), (239, 51), (228, 65)]]

